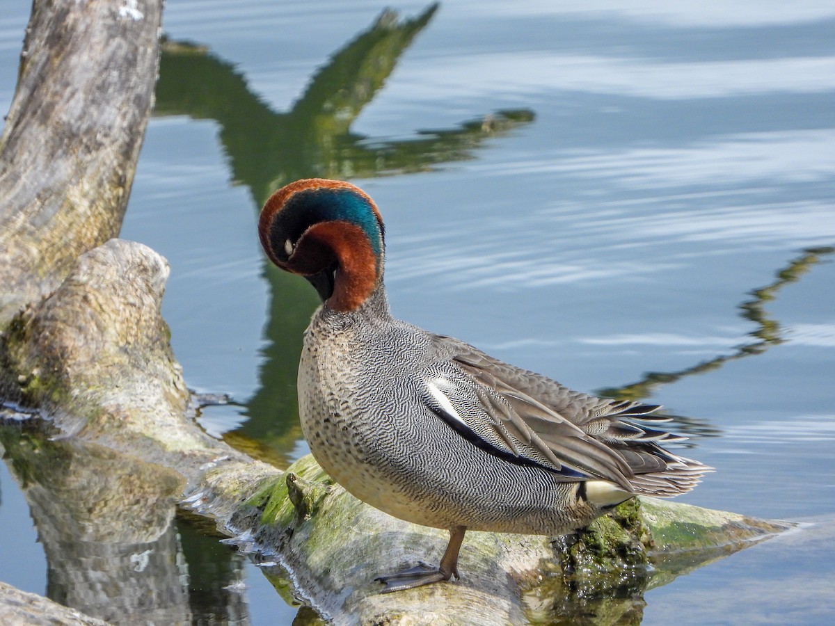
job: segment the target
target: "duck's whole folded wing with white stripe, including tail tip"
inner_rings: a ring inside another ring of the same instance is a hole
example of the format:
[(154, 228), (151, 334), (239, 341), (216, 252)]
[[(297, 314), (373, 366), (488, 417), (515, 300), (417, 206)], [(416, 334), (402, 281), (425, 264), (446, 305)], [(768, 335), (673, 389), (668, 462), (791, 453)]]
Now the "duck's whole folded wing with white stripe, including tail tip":
[(659, 406), (572, 391), (449, 337), (433, 336), (433, 343), (439, 358), (425, 372), (428, 406), (511, 462), (655, 496), (689, 491), (710, 470), (659, 445), (683, 437), (634, 422), (667, 421), (653, 415)]

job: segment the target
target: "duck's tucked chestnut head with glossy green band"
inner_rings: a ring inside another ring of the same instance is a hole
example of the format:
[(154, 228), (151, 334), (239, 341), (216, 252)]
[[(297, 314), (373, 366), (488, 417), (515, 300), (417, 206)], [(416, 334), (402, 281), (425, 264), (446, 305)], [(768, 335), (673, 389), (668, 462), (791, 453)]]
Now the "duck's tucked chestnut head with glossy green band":
[(304, 179), (282, 187), (264, 204), (258, 235), (270, 260), (310, 280), (333, 310), (356, 310), (382, 281), (380, 211), (350, 183)]

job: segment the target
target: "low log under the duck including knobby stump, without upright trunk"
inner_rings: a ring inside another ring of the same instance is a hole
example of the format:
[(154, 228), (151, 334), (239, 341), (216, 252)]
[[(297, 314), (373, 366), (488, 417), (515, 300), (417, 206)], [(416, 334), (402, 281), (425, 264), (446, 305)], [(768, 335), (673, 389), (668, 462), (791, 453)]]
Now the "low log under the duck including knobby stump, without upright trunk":
[(359, 502), (311, 457), (280, 472), (202, 432), (188, 416), (189, 392), (159, 312), (167, 275), (153, 250), (121, 240), (79, 257), (58, 290), (4, 333), (3, 389), (42, 407), (64, 435), (173, 470), (181, 502), (261, 561), (284, 564), (296, 593), (336, 623), (547, 622), (590, 608), (640, 614), (653, 581), (787, 528), (632, 501), (576, 537), (468, 533), (461, 581), (381, 594), (377, 574), (437, 559), (444, 533)]

